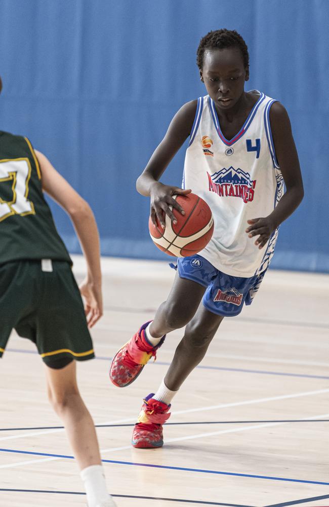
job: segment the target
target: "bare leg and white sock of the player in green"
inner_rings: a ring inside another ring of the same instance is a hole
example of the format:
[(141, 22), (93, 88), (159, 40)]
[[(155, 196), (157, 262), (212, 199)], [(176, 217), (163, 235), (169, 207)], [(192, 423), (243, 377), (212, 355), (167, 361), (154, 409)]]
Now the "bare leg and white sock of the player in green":
[[(67, 360), (64, 359), (62, 365)], [(53, 367), (46, 366), (50, 403), (65, 426), (85, 483), (89, 507), (113, 507), (115, 504), (106, 488), (94, 422), (78, 390), (75, 361), (58, 368), (62, 365), (54, 361)]]

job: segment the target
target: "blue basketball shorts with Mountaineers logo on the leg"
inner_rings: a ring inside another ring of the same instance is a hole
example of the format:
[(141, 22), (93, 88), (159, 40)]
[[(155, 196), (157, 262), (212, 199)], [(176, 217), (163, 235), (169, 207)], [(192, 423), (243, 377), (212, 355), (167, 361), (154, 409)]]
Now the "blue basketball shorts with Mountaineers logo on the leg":
[(243, 303), (252, 303), (265, 274), (250, 278), (226, 275), (199, 255), (178, 259), (177, 269), (180, 278), (206, 287), (202, 302), (207, 310), (227, 317), (238, 315)]

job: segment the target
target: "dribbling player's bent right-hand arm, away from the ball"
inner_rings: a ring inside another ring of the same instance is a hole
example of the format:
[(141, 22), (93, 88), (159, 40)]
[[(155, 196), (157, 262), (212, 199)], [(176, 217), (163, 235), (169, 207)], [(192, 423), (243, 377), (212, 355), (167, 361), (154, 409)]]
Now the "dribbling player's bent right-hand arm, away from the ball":
[(275, 154), (286, 192), (268, 216), (248, 220), (251, 226), (245, 232), (249, 237), (258, 236), (255, 244), (259, 245), (259, 248), (263, 248), (272, 232), (295, 211), (304, 196), (302, 174), (290, 119), (280, 102), (274, 102), (271, 106), (270, 124)]

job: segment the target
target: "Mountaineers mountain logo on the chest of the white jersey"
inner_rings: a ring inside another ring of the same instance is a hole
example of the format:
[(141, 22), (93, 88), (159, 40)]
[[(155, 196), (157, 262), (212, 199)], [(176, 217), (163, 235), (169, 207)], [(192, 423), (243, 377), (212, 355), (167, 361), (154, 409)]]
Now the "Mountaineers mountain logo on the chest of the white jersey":
[(208, 174), (209, 191), (215, 192), (219, 197), (240, 197), (243, 202), (254, 200), (256, 179), (251, 179), (248, 172), (230, 166), (223, 167), (214, 174)]

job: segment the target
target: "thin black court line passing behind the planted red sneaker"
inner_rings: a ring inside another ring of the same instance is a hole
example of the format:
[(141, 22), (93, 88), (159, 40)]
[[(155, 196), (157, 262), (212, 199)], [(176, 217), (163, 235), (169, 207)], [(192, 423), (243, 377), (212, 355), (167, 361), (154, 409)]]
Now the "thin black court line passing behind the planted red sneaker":
[[(185, 426), (189, 424), (251, 424), (251, 423), (268, 423), (268, 422), (329, 422), (329, 419), (274, 419), (271, 421), (193, 421), (193, 422), (166, 422), (166, 426)], [(131, 424), (95, 424), (95, 428), (124, 428), (133, 427), (135, 423)], [(64, 426), (39, 426), (29, 428), (0, 428), (0, 431), (29, 431), (36, 429), (64, 429)]]

